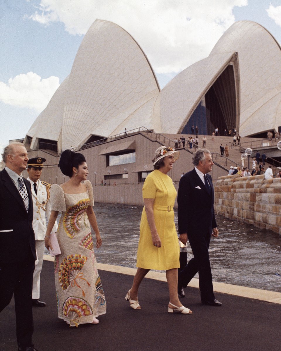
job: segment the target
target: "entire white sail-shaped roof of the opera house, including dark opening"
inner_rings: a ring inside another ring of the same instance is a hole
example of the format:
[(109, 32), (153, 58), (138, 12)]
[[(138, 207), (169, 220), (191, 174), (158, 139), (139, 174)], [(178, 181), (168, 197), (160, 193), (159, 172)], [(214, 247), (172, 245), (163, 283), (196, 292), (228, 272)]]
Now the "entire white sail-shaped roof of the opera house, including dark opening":
[(190, 133), (192, 125), (200, 134), (235, 127), (242, 137), (262, 135), (280, 130), (280, 102), (280, 46), (255, 22), (235, 22), (207, 58), (160, 91), (135, 39), (96, 20), (25, 143), (60, 152), (142, 126), (175, 134)]

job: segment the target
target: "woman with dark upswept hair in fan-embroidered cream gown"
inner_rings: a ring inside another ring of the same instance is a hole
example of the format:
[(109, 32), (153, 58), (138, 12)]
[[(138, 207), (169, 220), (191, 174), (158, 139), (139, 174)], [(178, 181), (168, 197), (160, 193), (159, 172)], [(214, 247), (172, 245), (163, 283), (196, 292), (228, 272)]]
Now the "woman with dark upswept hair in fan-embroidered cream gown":
[(52, 212), (45, 237), (45, 246), (52, 250), (52, 223), (61, 211), (57, 231), (61, 254), (55, 256), (58, 315), (70, 326), (97, 324), (96, 317), (106, 313), (106, 302), (91, 234), (92, 226), (98, 249), (102, 239), (92, 208), (92, 185), (86, 180), (89, 171), (84, 155), (71, 150), (61, 154), (59, 167), (70, 179), (60, 186), (53, 184), (51, 187)]

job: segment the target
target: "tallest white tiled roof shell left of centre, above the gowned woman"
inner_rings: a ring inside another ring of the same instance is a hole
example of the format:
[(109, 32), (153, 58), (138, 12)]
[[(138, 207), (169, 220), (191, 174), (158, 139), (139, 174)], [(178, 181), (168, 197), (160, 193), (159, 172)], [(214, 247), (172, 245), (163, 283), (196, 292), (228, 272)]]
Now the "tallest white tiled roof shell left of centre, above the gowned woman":
[[(63, 149), (84, 143), (91, 134), (108, 137), (143, 126), (143, 119), (153, 128), (151, 104), (158, 94), (155, 75), (136, 41), (112, 22), (94, 21), (69, 76)], [(145, 115), (132, 119), (139, 108)]]

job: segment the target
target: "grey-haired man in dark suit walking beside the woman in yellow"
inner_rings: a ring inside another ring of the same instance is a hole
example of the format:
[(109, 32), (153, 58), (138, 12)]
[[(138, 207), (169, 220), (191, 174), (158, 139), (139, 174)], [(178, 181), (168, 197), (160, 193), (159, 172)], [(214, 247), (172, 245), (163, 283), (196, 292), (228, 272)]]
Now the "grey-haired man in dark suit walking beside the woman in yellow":
[[(201, 301), (211, 306), (221, 306), (213, 292), (209, 260), (211, 235), (218, 237), (214, 214), (214, 188), (209, 174), (213, 161), (209, 150), (198, 150), (192, 158), (195, 168), (186, 173), (178, 188), (178, 232), (185, 245), (189, 240), (194, 258), (178, 274), (178, 293), (184, 297), (183, 287), (198, 272)], [(190, 209), (192, 204), (192, 211)]]

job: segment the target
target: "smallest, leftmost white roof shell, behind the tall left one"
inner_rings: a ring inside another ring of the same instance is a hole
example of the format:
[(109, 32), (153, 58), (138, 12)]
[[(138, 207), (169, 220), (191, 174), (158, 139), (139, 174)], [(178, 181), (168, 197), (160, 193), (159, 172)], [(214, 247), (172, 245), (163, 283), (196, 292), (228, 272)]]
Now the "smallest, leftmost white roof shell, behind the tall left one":
[(26, 133), (32, 137), (31, 149), (36, 138), (59, 140), (61, 128), (63, 127), (64, 100), (67, 91), (68, 77), (55, 91), (47, 107), (35, 119), (30, 130)]

